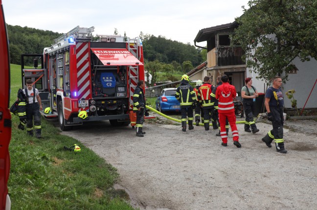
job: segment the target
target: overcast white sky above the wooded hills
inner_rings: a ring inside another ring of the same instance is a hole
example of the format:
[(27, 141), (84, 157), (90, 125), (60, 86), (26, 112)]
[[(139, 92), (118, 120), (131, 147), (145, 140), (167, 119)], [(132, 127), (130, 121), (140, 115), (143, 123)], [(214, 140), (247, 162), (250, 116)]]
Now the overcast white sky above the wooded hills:
[[(10, 25), (67, 33), (77, 25), (130, 38), (140, 32), (194, 44), (199, 30), (233, 22), (248, 0), (2, 0)], [(201, 45), (203, 43), (198, 43)]]

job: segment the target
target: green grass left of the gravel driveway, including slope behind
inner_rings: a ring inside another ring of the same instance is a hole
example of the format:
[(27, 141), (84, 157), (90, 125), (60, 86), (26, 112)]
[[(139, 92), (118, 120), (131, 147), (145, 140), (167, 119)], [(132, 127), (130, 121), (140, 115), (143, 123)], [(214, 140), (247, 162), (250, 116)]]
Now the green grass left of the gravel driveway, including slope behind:
[[(11, 104), (21, 84), (21, 67), (11, 65)], [(12, 210), (133, 210), (127, 194), (113, 189), (116, 169), (79, 141), (60, 134), (42, 118), (42, 139), (17, 129), (12, 115), (8, 181)], [(65, 151), (78, 144), (80, 153)]]

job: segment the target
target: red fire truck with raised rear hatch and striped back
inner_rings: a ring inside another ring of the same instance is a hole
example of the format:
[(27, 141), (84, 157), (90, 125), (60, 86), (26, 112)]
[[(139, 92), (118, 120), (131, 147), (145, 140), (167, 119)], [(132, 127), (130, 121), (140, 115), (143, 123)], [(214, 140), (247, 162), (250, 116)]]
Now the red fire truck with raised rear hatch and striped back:
[[(137, 82), (144, 80), (142, 42), (120, 35), (97, 35), (92, 41), (93, 31), (77, 26), (55, 39), (43, 55), (22, 55), (23, 86), (32, 79), (43, 110), (51, 108), (42, 114), (58, 117), (63, 131), (86, 121), (136, 123), (133, 94)], [(35, 58), (34, 67), (27, 69), (30, 57)], [(79, 117), (81, 111), (88, 117)]]

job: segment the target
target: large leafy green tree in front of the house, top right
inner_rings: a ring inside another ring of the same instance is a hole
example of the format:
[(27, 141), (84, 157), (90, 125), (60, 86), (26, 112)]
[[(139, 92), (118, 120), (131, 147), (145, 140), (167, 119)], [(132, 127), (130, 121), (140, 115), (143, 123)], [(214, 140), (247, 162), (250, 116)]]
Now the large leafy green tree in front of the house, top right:
[(249, 0), (249, 9), (237, 18), (239, 26), (232, 36), (241, 44), (247, 66), (267, 83), (273, 76), (287, 80), (292, 61), (299, 57), (317, 59), (316, 0)]

